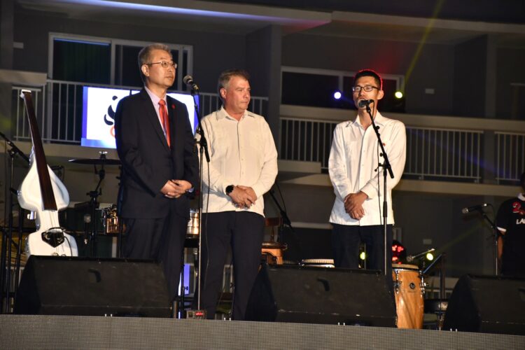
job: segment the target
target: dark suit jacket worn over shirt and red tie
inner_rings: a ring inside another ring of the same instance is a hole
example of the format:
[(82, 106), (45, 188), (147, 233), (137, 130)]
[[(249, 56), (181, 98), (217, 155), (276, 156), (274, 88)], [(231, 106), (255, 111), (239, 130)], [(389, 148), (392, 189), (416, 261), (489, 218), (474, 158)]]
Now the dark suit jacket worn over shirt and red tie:
[(167, 109), (171, 149), (146, 90), (118, 103), (115, 136), (122, 162), (118, 202), (123, 218), (162, 218), (170, 208), (189, 216), (186, 195), (170, 200), (160, 193), (170, 179), (189, 181), (196, 188), (199, 167), (186, 105), (168, 96)]

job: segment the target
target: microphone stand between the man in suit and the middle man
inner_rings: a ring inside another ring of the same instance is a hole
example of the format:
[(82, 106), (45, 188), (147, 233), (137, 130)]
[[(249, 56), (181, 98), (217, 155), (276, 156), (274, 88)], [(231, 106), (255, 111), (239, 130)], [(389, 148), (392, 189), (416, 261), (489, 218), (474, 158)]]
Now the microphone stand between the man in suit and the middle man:
[[(199, 153), (200, 153), (200, 157), (199, 157), (199, 160), (200, 160), (200, 165), (199, 165), (199, 247), (197, 248), (198, 250), (198, 255), (199, 257), (197, 258), (197, 265), (199, 265), (197, 267), (197, 310), (200, 311), (200, 295), (201, 295), (201, 281), (202, 281), (202, 276), (201, 276), (201, 262), (202, 262), (202, 209), (203, 209), (203, 202), (202, 202), (202, 164), (203, 164), (203, 153), (204, 153), (204, 157), (206, 158), (206, 162), (208, 163), (209, 165), (209, 162), (210, 162), (210, 159), (209, 159), (209, 153), (208, 153), (208, 141), (206, 139), (206, 137), (204, 136), (204, 130), (202, 130), (202, 125), (201, 125), (201, 116), (200, 116), (200, 111), (199, 111), (199, 106), (197, 104), (197, 99), (195, 98), (195, 95), (199, 95), (199, 90), (198, 89), (195, 89), (194, 87), (195, 85), (192, 85), (192, 89), (191, 89), (191, 95), (193, 97), (193, 105), (195, 106), (195, 113), (197, 115), (197, 130), (195, 131), (195, 134), (200, 134), (200, 140), (197, 140), (195, 139), (195, 147), (197, 147), (197, 144), (200, 145), (199, 147)], [(195, 150), (194, 150), (195, 152)], [(184, 307), (184, 293), (182, 293), (182, 302), (181, 302), (181, 305), (182, 307)], [(205, 318), (205, 317), (204, 317)]]

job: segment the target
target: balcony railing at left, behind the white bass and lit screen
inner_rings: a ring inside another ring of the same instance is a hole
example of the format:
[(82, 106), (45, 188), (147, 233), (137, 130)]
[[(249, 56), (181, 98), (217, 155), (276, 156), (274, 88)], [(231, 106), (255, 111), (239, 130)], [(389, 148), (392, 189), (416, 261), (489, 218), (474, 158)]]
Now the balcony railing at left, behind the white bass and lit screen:
[[(82, 137), (83, 87), (85, 86), (122, 88), (126, 90), (138, 90), (140, 88), (102, 84), (85, 85), (85, 83), (60, 80), (48, 80), (46, 85), (40, 87), (13, 86), (12, 106), (15, 120), (15, 127), (11, 130), (13, 139), (16, 141), (29, 141), (31, 139), (24, 105), (19, 97), (20, 91), (27, 89), (34, 94), (35, 111), (42, 141), (53, 144), (80, 144), (80, 138)], [(265, 115), (267, 104), (267, 97), (252, 96), (248, 110)], [(199, 109), (201, 116), (206, 116), (220, 107), (221, 99), (218, 98), (218, 94), (200, 93)]]

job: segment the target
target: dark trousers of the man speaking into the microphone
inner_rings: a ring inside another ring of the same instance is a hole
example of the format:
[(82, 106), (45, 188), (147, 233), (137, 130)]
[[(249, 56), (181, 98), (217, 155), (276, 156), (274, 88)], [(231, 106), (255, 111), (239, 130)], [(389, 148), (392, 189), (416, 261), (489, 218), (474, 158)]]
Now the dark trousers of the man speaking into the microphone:
[[(384, 232), (382, 225), (338, 225), (332, 224), (332, 251), (335, 267), (357, 269), (359, 245), (367, 246), (369, 265), (367, 269), (384, 272)], [(386, 225), (386, 283), (393, 293), (392, 281), (392, 225)]]

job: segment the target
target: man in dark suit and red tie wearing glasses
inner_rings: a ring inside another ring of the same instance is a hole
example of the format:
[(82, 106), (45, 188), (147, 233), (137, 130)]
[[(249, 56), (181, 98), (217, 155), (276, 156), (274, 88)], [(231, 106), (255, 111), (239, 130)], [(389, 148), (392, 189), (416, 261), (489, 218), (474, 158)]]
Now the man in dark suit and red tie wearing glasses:
[(188, 109), (166, 94), (176, 70), (169, 48), (143, 48), (139, 69), (144, 89), (122, 99), (115, 118), (122, 162), (118, 202), (127, 235), (123, 255), (161, 262), (174, 298), (198, 160)]

